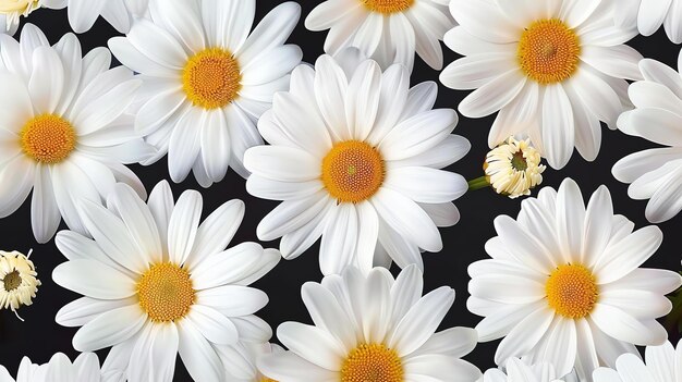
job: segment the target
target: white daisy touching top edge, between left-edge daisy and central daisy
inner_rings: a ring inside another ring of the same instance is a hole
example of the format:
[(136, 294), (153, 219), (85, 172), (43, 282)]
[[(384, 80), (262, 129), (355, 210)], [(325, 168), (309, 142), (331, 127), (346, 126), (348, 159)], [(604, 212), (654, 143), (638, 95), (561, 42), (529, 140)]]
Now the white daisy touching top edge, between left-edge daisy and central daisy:
[(285, 2), (251, 33), (255, 0), (154, 0), (151, 20), (137, 22), (109, 47), (125, 65), (142, 73), (146, 101), (136, 130), (168, 152), (174, 182), (194, 170), (208, 187), (228, 165), (248, 176), (244, 151), (263, 145), (256, 121), (272, 95), (289, 88), (289, 73), (301, 49), (284, 45), (301, 7)]

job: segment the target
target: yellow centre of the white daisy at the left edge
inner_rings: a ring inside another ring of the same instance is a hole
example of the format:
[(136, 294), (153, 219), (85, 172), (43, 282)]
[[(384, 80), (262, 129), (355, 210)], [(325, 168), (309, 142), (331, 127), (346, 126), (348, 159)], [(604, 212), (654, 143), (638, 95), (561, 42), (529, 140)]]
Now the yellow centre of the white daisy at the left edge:
[(41, 163), (59, 163), (76, 147), (73, 126), (53, 114), (32, 119), (22, 127), (19, 137), (24, 153)]

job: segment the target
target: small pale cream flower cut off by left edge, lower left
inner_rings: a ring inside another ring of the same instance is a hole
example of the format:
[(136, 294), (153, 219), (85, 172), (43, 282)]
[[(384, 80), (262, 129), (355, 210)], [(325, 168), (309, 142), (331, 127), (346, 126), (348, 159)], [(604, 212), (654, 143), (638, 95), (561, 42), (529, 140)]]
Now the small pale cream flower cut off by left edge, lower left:
[(32, 305), (41, 285), (36, 267), (28, 260), (31, 252), (26, 256), (0, 250), (0, 308), (11, 309), (16, 317), (16, 309)]

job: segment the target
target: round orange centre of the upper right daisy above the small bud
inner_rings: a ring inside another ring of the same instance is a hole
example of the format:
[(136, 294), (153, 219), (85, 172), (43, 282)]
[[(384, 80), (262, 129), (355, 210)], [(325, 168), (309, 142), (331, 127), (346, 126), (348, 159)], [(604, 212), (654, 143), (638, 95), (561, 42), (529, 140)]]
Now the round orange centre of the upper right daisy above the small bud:
[(531, 24), (521, 36), (517, 50), (521, 70), (543, 85), (570, 78), (577, 69), (580, 53), (577, 35), (557, 19)]

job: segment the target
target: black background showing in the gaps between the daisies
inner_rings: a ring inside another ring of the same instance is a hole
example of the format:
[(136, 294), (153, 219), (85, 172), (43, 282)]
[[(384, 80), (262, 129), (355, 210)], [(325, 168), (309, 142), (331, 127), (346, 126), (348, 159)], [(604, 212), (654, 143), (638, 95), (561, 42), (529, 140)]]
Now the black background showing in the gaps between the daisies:
[[(256, 22), (281, 0), (258, 0)], [(301, 21), (290, 38), (290, 42), (299, 45), (304, 52), (304, 61), (315, 62), (317, 57), (324, 53), (322, 45), (326, 33), (313, 33), (303, 26), (305, 16), (321, 1), (300, 1), (303, 10)], [(71, 32), (66, 20), (66, 11), (39, 10), (33, 13), (28, 20), (40, 27), (51, 44), (57, 42), (62, 35)], [(25, 20), (24, 20), (25, 21)], [(495, 27), (490, 25), (490, 27)], [(20, 29), (21, 33), (21, 29)], [(15, 38), (19, 38), (19, 33)], [(78, 35), (83, 46), (83, 52), (96, 47), (107, 46), (110, 37), (118, 35), (117, 30), (99, 19), (95, 26), (87, 33)], [(644, 57), (662, 61), (677, 69), (677, 57), (680, 47), (668, 40), (665, 33), (659, 30), (656, 35), (645, 38), (637, 37), (629, 42)], [(458, 58), (455, 53), (444, 48), (446, 63)], [(118, 63), (117, 63), (118, 64)], [(439, 72), (431, 70), (421, 59), (416, 59), (412, 84), (425, 81), (438, 82)], [(0, 91), (3, 91), (0, 84)], [(437, 108), (456, 109), (459, 102), (467, 95), (465, 91), (448, 89), (439, 84)], [(1, 107), (1, 106), (0, 106)], [(454, 133), (466, 137), (472, 149), (468, 155), (452, 164), (448, 170), (460, 173), (471, 180), (482, 175), (483, 159), (488, 151), (487, 135), (494, 116), (480, 120), (461, 118)], [(582, 159), (574, 153), (569, 165), (560, 171), (548, 169), (545, 172), (543, 186), (558, 187), (565, 177), (574, 178), (585, 200), (601, 184), (606, 184), (613, 197), (616, 213), (622, 213), (635, 222), (636, 227), (648, 225), (644, 217), (646, 201), (636, 201), (628, 197), (628, 185), (621, 184), (611, 175), (611, 167), (622, 157), (645, 148), (653, 144), (626, 136), (618, 131), (612, 132), (602, 127), (602, 144), (599, 157), (594, 162)], [(133, 165), (133, 171), (143, 180), (147, 190), (161, 180), (169, 178), (167, 161), (163, 158), (150, 167)], [(227, 200), (239, 198), (246, 202), (246, 215), (232, 245), (255, 241), (256, 225), (277, 202), (261, 200), (248, 195), (244, 188), (244, 180), (232, 170), (220, 183), (208, 189), (200, 188), (190, 175), (181, 184), (172, 184), (175, 197), (185, 189), (199, 189), (204, 196), (204, 217)], [(536, 195), (537, 190), (534, 192)], [(467, 266), (476, 260), (488, 256), (484, 250), (486, 241), (495, 236), (492, 226), (494, 219), (499, 214), (515, 217), (522, 199), (511, 200), (498, 196), (490, 189), (483, 189), (464, 195), (455, 201), (461, 211), (461, 221), (455, 226), (441, 230), (443, 249), (439, 254), (424, 254), (425, 261), (425, 288), (431, 291), (441, 285), (449, 285), (456, 291), (454, 306), (443, 320), (441, 330), (450, 326), (474, 326), (480, 318), (472, 315), (466, 309), (468, 274)], [(14, 375), (19, 363), (24, 356), (31, 357), (32, 361), (44, 363), (57, 352), (65, 353), (71, 359), (77, 356), (73, 349), (71, 340), (77, 328), (63, 328), (54, 322), (54, 315), (65, 304), (76, 299), (80, 295), (66, 291), (54, 284), (51, 272), (65, 258), (59, 252), (53, 241), (46, 245), (38, 245), (33, 238), (31, 231), (31, 198), (20, 210), (11, 217), (0, 220), (0, 249), (27, 251), (33, 248), (32, 256), (42, 286), (34, 299), (34, 305), (22, 308), (21, 315), (25, 322), (21, 322), (9, 310), (0, 311), (0, 365), (5, 366)], [(63, 223), (62, 223), (63, 225)], [(663, 231), (663, 244), (649, 259), (645, 267), (680, 270), (682, 259), (682, 215), (659, 224)], [(62, 226), (65, 229), (65, 226)], [(278, 247), (277, 242), (261, 243), (265, 247)], [(269, 274), (254, 284), (265, 291), (270, 297), (270, 303), (258, 312), (258, 316), (268, 321), (276, 331), (277, 326), (284, 321), (301, 321), (310, 323), (305, 306), (301, 300), (300, 288), (306, 281), (319, 281), (321, 274), (318, 267), (317, 252), (319, 243), (307, 250), (299, 259), (292, 261), (282, 260)], [(394, 272), (398, 269), (393, 269)], [(672, 333), (671, 340), (677, 343), (678, 334)], [(275, 336), (273, 336), (275, 341)], [(465, 358), (475, 363), (482, 370), (494, 367), (492, 357), (498, 342), (482, 343)], [(98, 352), (100, 362), (108, 350)], [(191, 381), (182, 361), (178, 359), (175, 381)]]

